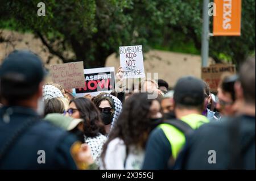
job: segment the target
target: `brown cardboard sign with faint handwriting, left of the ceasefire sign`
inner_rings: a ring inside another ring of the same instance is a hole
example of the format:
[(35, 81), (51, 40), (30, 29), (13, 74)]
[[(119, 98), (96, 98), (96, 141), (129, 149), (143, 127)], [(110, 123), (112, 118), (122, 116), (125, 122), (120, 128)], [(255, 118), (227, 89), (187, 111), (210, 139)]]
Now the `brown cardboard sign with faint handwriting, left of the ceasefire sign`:
[(84, 87), (84, 64), (81, 61), (51, 65), (51, 77), (64, 89)]

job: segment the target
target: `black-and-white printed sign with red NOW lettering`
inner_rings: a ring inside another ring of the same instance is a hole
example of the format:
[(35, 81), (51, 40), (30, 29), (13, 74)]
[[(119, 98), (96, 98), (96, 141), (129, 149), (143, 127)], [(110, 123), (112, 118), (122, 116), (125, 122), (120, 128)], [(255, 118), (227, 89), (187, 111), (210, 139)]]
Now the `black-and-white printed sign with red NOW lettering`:
[(76, 96), (81, 97), (86, 94), (97, 96), (101, 92), (109, 94), (115, 89), (114, 67), (84, 69), (84, 85), (76, 89)]

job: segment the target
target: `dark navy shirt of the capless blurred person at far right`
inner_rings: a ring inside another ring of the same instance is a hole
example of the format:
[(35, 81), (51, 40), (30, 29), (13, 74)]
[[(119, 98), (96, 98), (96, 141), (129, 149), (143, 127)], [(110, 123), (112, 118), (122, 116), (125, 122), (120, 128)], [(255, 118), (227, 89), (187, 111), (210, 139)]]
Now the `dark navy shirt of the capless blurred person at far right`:
[[(237, 132), (231, 132), (234, 131), (231, 129), (234, 121), (238, 123)], [(234, 155), (235, 150), (243, 152)], [(232, 164), (239, 158), (241, 164)], [(175, 164), (175, 169), (237, 168), (255, 169), (255, 117), (252, 116), (243, 115), (203, 125), (188, 137)]]

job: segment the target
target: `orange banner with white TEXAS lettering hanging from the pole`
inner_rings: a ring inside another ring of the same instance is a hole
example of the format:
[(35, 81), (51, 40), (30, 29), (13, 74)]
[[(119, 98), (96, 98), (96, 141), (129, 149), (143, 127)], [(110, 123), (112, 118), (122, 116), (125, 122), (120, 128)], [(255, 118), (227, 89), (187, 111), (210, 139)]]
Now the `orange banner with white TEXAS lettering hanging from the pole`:
[(241, 35), (242, 0), (214, 0), (213, 36)]

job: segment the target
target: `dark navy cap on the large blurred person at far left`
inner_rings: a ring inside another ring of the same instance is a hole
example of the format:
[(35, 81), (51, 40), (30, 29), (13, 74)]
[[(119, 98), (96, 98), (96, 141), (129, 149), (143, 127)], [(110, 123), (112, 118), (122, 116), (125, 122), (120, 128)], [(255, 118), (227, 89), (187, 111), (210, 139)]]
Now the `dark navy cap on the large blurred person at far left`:
[(19, 87), (39, 85), (46, 74), (42, 60), (30, 50), (14, 50), (0, 67), (0, 78), (18, 81)]

